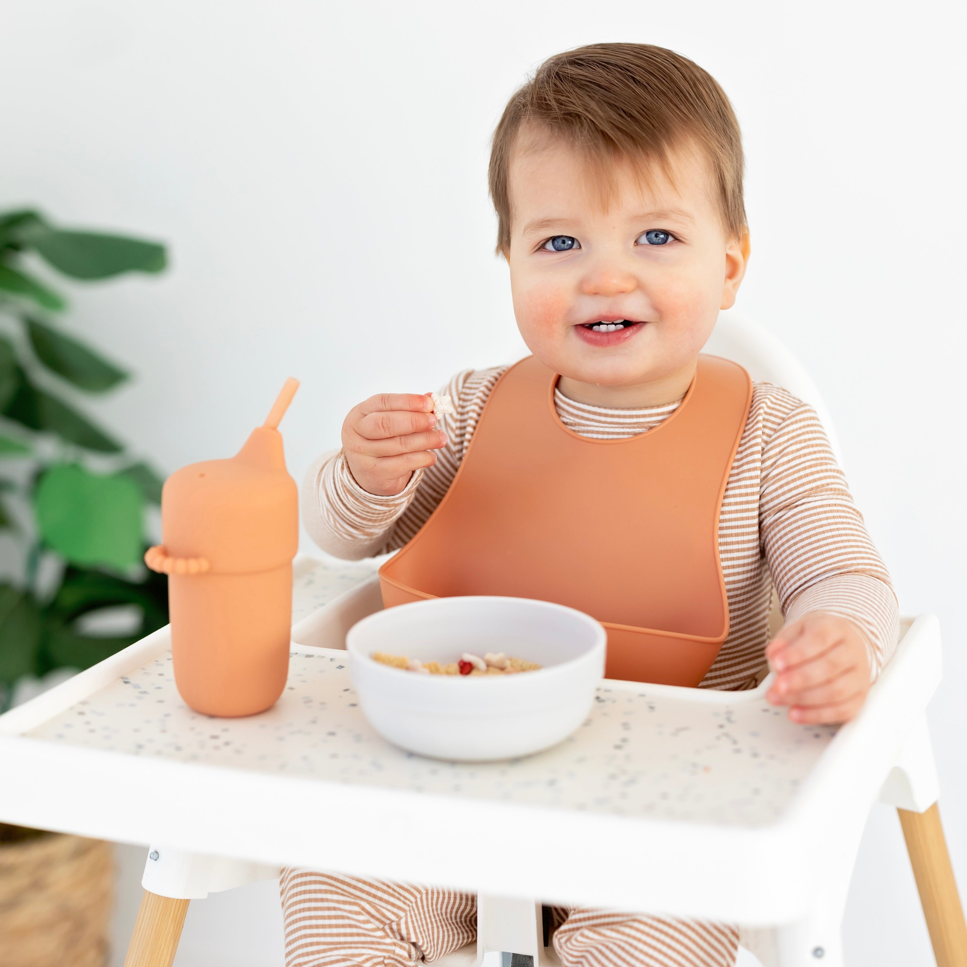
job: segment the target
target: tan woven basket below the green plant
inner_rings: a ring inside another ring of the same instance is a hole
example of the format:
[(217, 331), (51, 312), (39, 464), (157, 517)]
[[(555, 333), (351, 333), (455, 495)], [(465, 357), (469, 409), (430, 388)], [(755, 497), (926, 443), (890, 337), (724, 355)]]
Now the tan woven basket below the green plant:
[(97, 839), (50, 833), (0, 844), (0, 964), (103, 967), (112, 878), (111, 846)]

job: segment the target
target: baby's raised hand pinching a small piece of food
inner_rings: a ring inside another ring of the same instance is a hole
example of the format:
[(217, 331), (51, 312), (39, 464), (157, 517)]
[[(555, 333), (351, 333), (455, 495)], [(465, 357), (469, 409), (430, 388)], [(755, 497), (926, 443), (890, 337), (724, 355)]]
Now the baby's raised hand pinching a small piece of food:
[(353, 407), (342, 425), (342, 452), (356, 483), (380, 497), (399, 493), (447, 445), (435, 426), (428, 395), (381, 393)]

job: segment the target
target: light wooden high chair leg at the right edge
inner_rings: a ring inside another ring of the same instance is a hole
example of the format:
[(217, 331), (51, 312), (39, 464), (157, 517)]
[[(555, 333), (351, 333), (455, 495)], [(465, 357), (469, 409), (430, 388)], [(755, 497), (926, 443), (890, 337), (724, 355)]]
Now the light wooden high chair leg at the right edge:
[(917, 880), (937, 967), (967, 967), (967, 925), (953, 879), (940, 810), (934, 803), (925, 812), (896, 811)]

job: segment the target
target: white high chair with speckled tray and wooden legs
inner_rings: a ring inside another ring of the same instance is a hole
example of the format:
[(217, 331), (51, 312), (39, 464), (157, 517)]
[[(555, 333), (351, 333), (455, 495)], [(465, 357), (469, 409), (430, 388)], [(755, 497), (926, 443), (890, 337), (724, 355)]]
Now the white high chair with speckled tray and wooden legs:
[[(838, 453), (818, 391), (775, 337), (723, 315), (707, 349), (811, 403)], [(476, 890), (477, 944), (437, 961), (446, 967), (479, 967), (494, 952), (554, 963), (541, 900), (742, 923), (765, 967), (842, 967), (846, 890), (877, 797), (899, 810), (938, 967), (967, 967), (924, 714), (940, 680), (933, 617), (903, 619), (863, 712), (838, 730), (793, 726), (767, 706), (768, 683), (711, 692), (605, 681), (591, 727), (572, 740), (471, 769), (408, 757), (353, 711), (338, 649), (382, 606), (371, 570), (308, 562), (296, 584), (303, 611), (313, 595), (328, 603), (294, 625), (289, 689), (262, 716), (190, 713), (162, 629), (0, 717), (0, 820), (151, 844), (126, 967), (170, 967), (190, 899), (272, 878), (280, 864)], [(320, 738), (326, 716), (335, 738)], [(689, 749), (705, 756), (698, 778), (668, 777), (685, 747), (681, 728), (659, 721), (690, 729)], [(632, 805), (608, 801), (610, 777), (586, 765), (611, 754), (622, 723), (638, 737), (623, 752), (638, 780)], [(733, 745), (722, 747), (726, 723)], [(603, 805), (579, 805), (588, 789)]]

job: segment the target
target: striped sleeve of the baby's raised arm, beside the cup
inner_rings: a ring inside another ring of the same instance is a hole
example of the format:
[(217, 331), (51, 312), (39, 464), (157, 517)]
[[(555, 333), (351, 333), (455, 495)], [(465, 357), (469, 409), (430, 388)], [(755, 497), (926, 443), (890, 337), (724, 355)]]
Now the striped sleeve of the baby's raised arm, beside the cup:
[(350, 561), (398, 550), (409, 542), (453, 484), (487, 396), (506, 369), (465, 369), (440, 390), (454, 402), (454, 414), (445, 415), (440, 423), (447, 445), (436, 452), (436, 462), (415, 471), (398, 494), (369, 493), (356, 483), (341, 450), (322, 454), (309, 467), (302, 489), (309, 537), (327, 553)]

